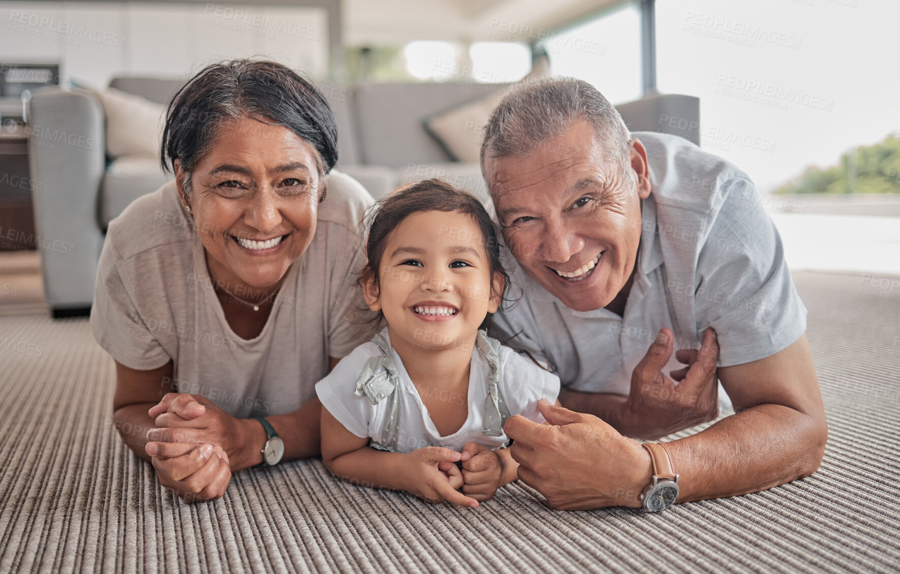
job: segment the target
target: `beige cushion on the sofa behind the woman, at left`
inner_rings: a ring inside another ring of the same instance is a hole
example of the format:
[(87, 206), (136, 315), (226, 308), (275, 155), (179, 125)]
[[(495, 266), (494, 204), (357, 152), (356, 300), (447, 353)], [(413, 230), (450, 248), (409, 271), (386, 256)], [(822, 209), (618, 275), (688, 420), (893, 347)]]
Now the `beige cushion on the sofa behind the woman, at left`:
[(145, 193), (157, 191), (173, 175), (164, 173), (156, 156), (117, 158), (103, 175), (100, 190), (100, 223), (103, 229)]

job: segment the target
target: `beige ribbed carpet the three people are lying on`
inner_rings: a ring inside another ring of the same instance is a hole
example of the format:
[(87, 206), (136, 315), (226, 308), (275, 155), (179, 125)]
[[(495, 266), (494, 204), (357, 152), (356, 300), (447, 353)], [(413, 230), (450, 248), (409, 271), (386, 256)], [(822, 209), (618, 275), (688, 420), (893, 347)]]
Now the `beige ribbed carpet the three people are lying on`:
[(320, 461), (183, 504), (116, 434), (112, 360), (87, 321), (0, 310), (0, 572), (896, 572), (900, 290), (796, 280), (831, 424), (821, 470), (660, 515), (554, 512), (518, 482), (476, 510), (435, 507)]

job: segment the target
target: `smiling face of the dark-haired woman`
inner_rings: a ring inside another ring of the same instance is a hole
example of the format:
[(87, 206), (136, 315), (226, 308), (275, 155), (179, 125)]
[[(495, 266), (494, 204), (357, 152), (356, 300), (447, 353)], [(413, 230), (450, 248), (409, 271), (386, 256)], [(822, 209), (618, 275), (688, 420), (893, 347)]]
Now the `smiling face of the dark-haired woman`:
[(267, 289), (315, 234), (316, 149), (284, 126), (248, 118), (223, 123), (212, 143), (194, 167), (190, 198), (210, 273)]

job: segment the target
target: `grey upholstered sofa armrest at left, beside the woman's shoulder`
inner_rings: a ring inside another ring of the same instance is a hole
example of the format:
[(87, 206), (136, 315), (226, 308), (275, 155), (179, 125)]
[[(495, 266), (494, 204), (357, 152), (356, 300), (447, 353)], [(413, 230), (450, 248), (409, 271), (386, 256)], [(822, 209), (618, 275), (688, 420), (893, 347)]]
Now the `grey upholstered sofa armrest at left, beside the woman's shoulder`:
[(103, 107), (93, 95), (42, 88), (31, 97), (29, 165), (44, 295), (54, 315), (94, 300), (103, 232)]

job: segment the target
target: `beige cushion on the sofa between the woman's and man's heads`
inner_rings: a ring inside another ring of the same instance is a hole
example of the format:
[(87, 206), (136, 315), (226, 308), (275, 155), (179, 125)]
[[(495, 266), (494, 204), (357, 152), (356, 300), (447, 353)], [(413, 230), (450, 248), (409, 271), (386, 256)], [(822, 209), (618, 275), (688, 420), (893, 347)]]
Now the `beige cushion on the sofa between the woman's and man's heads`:
[(496, 84), (422, 82), (366, 84), (356, 89), (356, 114), (363, 163), (405, 168), (408, 163), (451, 160), (422, 129), (422, 118), (483, 98)]

